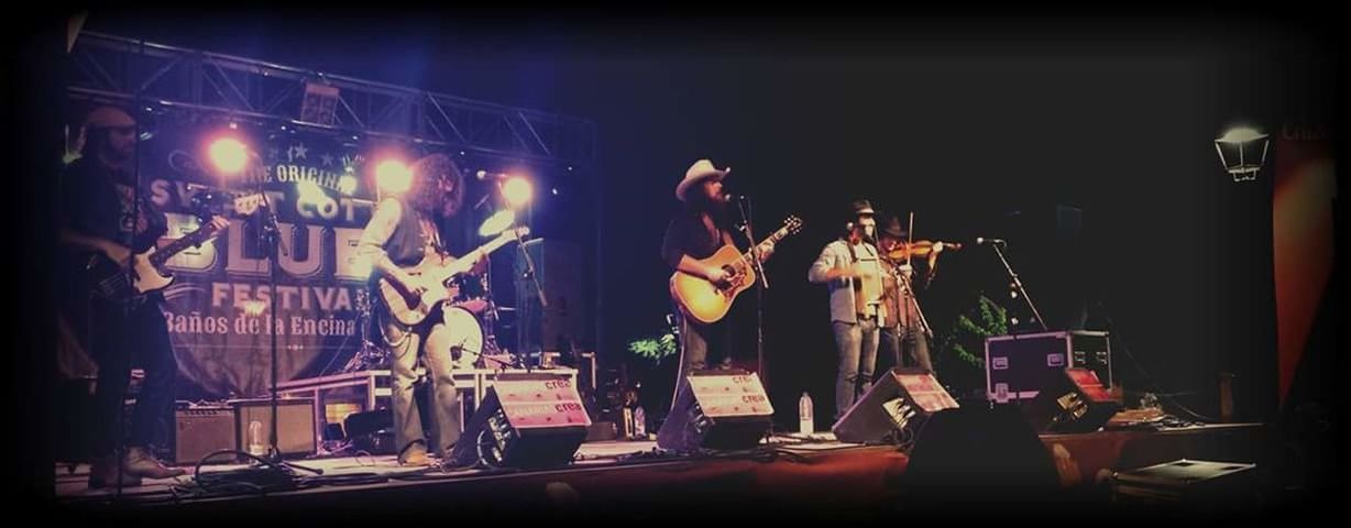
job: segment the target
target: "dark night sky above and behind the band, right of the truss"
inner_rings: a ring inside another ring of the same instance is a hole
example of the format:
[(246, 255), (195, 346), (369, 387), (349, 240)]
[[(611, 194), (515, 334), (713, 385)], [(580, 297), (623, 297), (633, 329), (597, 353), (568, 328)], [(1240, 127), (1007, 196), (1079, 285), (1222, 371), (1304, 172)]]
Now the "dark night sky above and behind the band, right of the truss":
[[(1333, 92), (1296, 27), (1116, 20), (158, 11), (95, 12), (86, 30), (594, 120), (598, 155), (586, 171), (605, 188), (601, 350), (611, 361), (663, 324), (669, 270), (658, 246), (671, 192), (690, 162), (711, 158), (757, 200), (758, 231), (790, 213), (808, 223), (766, 269), (778, 406), (790, 409), (804, 389), (828, 405), (825, 292), (805, 274), (850, 200), (869, 197), (915, 211), (920, 238), (1009, 238), (1043, 311), (1059, 313), (1077, 294), (1102, 301), (1139, 366), (1166, 390), (1201, 392), (1190, 402), (1213, 413), (1217, 370), (1240, 371), (1259, 393), (1273, 382), (1275, 338), (1270, 178), (1235, 186), (1210, 142), (1236, 120), (1277, 128), (1331, 115), (1317, 97)], [(1075, 240), (1052, 243), (1054, 224), (1038, 221), (1054, 204), (1082, 211)], [(988, 250), (944, 259), (935, 325), (979, 290), (1002, 294)], [(736, 355), (753, 361), (746, 298), (734, 316)], [(1116, 370), (1142, 384), (1120, 352)]]

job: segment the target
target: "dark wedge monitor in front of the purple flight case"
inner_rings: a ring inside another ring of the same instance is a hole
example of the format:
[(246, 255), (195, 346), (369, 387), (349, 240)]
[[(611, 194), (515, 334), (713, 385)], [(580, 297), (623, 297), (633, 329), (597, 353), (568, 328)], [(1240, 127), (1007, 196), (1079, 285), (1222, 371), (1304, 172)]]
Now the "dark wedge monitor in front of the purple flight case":
[(1065, 369), (1047, 379), (1024, 411), (1039, 432), (1092, 432), (1120, 412), (1121, 404), (1093, 370)]

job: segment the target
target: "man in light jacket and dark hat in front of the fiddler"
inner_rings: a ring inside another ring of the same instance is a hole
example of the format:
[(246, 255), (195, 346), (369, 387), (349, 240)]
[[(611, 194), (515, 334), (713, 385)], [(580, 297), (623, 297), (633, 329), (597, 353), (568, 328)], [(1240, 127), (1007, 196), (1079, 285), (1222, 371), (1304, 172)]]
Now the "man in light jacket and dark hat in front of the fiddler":
[(881, 258), (870, 242), (877, 230), (874, 213), (867, 200), (854, 201), (852, 221), (844, 236), (825, 244), (807, 271), (808, 281), (830, 289), (831, 327), (840, 361), (835, 378), (836, 420), (871, 384), (878, 328), (886, 325)]

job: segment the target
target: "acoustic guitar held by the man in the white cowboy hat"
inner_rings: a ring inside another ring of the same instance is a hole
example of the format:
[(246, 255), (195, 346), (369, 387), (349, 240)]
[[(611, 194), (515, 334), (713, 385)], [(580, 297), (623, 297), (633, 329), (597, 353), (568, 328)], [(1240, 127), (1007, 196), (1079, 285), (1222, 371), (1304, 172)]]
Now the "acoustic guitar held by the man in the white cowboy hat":
[[(802, 220), (789, 216), (784, 220), (784, 227), (765, 238), (758, 246), (777, 243), (788, 235), (797, 234), (801, 228)], [(736, 296), (755, 284), (754, 258), (751, 251), (742, 254), (731, 244), (723, 246), (712, 257), (697, 262), (705, 266), (717, 266), (731, 273), (728, 284), (716, 285), (704, 277), (677, 270), (670, 281), (671, 298), (686, 316), (704, 324), (716, 323), (727, 316)]]

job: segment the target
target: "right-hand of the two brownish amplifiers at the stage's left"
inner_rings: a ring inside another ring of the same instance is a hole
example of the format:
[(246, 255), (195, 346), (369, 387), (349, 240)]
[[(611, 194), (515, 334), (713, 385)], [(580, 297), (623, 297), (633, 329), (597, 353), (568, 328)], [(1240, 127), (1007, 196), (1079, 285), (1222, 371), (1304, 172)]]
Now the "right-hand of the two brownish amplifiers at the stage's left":
[[(254, 421), (262, 427), (259, 439), (272, 443), (272, 400), (231, 400), (235, 409), (235, 448), (249, 452), (249, 427)], [(282, 456), (308, 456), (317, 448), (315, 404), (311, 398), (277, 400), (277, 450)]]

